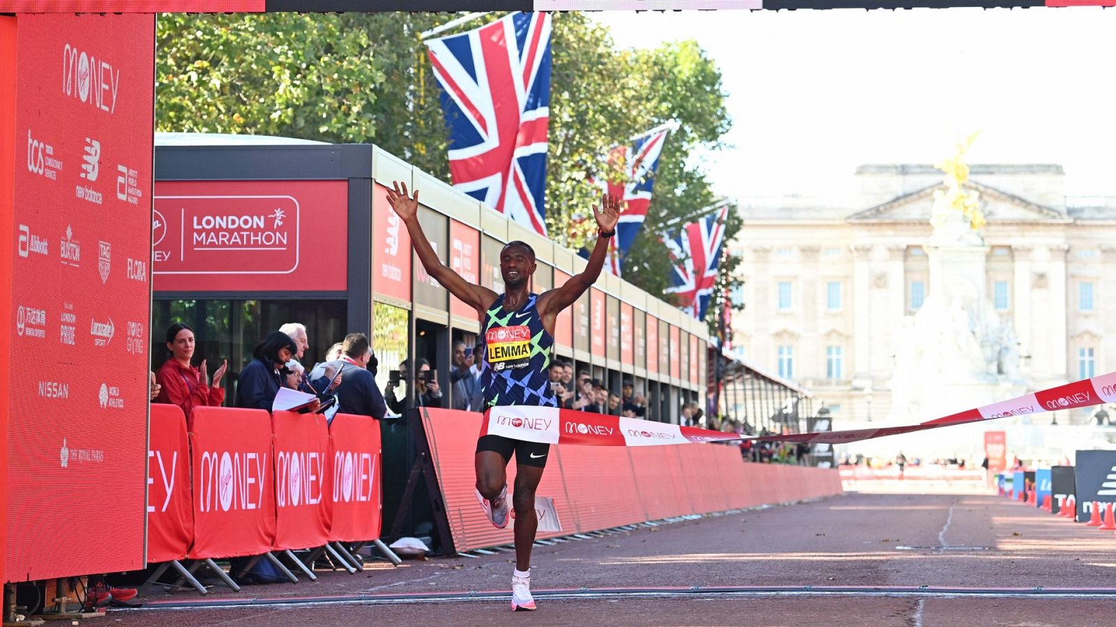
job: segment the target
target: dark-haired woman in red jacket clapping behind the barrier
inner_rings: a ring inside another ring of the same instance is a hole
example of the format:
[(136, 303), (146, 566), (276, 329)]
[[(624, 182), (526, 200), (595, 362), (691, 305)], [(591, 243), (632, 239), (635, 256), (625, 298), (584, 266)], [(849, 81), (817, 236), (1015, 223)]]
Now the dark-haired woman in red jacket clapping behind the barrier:
[(229, 368), (228, 359), (213, 373), (213, 382), (208, 384), (205, 360), (202, 359), (198, 368), (190, 365), (194, 356), (194, 330), (183, 322), (175, 322), (166, 329), (166, 348), (171, 358), (155, 373), (155, 379), (162, 386), (156, 403), (177, 405), (187, 417), (194, 407), (217, 407), (224, 403), (221, 378)]

